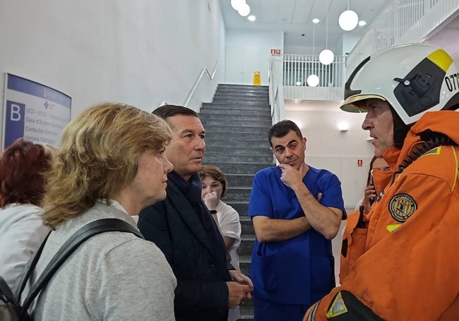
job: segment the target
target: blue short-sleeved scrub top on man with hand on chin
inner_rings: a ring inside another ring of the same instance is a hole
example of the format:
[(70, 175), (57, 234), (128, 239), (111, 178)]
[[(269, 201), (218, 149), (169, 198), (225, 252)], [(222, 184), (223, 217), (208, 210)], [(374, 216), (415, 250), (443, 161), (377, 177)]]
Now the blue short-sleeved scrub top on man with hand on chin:
[[(278, 166), (262, 169), (254, 177), (249, 217), (295, 219), (304, 212), (294, 191), (280, 181)], [(341, 183), (335, 174), (309, 166), (303, 183), (321, 205), (345, 215)], [(314, 229), (286, 241), (255, 241), (251, 261), (254, 295), (282, 304), (311, 305), (335, 286), (331, 241)]]

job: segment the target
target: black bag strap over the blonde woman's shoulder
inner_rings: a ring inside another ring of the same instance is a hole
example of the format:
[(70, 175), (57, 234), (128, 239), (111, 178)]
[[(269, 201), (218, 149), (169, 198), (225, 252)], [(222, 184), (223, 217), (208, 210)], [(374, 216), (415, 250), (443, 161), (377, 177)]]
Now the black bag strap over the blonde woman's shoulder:
[[(142, 234), (135, 227), (121, 219), (98, 219), (97, 221), (86, 224), (81, 229), (78, 229), (78, 231), (76, 231), (70, 238), (68, 238), (64, 245), (59, 248), (57, 253), (53, 256), (52, 260), (49, 261), (47, 267), (44, 268), (42, 274), (37, 279), (35, 284), (32, 285), (27, 298), (25, 298), (23, 307), (20, 310), (20, 315), (27, 313), (30, 304), (38, 295), (38, 293), (40, 293), (44, 285), (47, 284), (56, 270), (59, 269), (66, 258), (68, 258), (68, 256), (70, 256), (71, 253), (73, 253), (73, 251), (81, 245), (81, 243), (86, 241), (91, 236), (95, 236), (96, 234), (107, 231), (122, 231), (126, 233), (132, 233), (139, 238), (143, 238)], [(28, 274), (30, 275), (29, 271)]]

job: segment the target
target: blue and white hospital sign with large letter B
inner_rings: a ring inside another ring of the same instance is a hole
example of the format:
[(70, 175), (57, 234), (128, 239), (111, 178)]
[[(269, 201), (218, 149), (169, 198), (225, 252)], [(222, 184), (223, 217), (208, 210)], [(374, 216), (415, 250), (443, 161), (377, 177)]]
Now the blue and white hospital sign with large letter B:
[(71, 97), (7, 73), (4, 106), (4, 148), (18, 138), (59, 146), (70, 121)]

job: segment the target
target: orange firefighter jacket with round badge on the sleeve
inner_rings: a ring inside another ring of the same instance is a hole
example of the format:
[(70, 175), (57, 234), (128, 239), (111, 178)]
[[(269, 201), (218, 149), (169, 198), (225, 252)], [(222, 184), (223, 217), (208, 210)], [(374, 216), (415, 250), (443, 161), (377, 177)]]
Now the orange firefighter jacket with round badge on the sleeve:
[(429, 150), (395, 175), (371, 207), (362, 255), (304, 320), (358, 320), (363, 308), (346, 302), (349, 293), (374, 320), (459, 320), (458, 129), (456, 111), (427, 112), (412, 126), (395, 168), (425, 131), (457, 145)]

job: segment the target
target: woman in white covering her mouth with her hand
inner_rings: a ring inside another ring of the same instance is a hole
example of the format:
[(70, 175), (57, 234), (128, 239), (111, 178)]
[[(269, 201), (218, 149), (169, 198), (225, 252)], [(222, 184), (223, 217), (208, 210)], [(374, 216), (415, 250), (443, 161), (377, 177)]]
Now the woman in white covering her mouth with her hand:
[[(217, 166), (203, 166), (199, 175), (203, 182), (201, 196), (205, 206), (208, 207), (218, 229), (220, 229), (220, 234), (222, 234), (225, 241), (225, 248), (229, 254), (231, 265), (240, 271), (239, 257), (236, 250), (241, 244), (241, 223), (239, 222), (238, 212), (221, 200), (225, 195), (227, 187), (225, 174)], [(229, 309), (228, 321), (238, 319), (239, 306)]]

